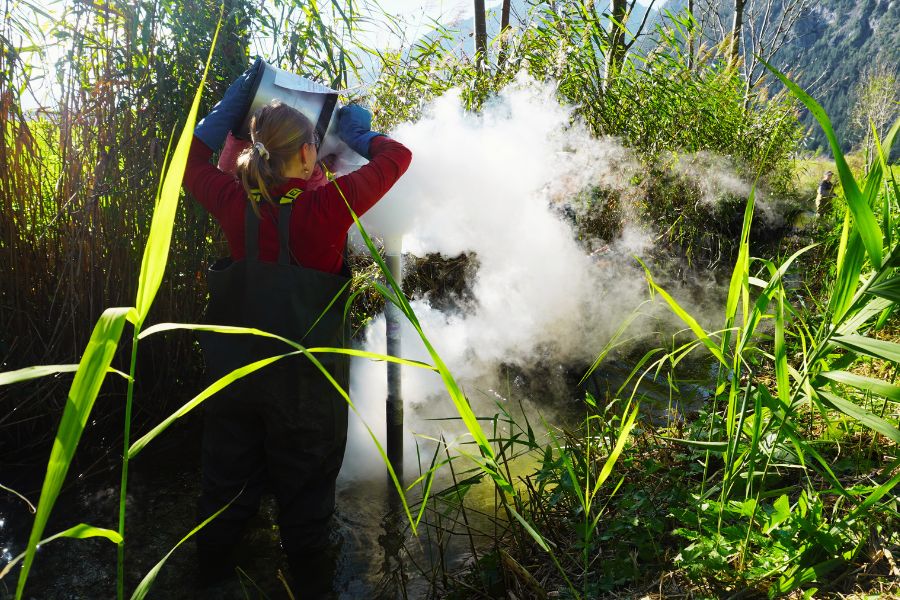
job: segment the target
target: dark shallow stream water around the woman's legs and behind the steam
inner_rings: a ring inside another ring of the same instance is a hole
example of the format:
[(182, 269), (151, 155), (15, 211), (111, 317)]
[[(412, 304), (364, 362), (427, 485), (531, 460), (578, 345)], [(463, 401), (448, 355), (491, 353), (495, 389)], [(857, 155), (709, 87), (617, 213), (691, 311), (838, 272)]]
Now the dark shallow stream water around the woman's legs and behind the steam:
[[(554, 419), (558, 425), (576, 422), (584, 416), (585, 389), (597, 398), (615, 392), (628, 376), (626, 363), (610, 363), (596, 373), (586, 385), (571, 385), (567, 393), (553, 400)], [(708, 372), (701, 367), (698, 381)], [(543, 379), (527, 375), (514, 378), (510, 406), (529, 397), (544, 397)], [(558, 393), (558, 392), (557, 392)], [(664, 420), (672, 414), (690, 411), (708, 396), (706, 387), (693, 381), (670, 385), (662, 379), (647, 379), (640, 387), (645, 414)], [(374, 452), (374, 448), (372, 452)], [(407, 450), (410, 452), (411, 450)], [(173, 427), (153, 442), (131, 463), (128, 482), (128, 537), (126, 586), (131, 590), (153, 566), (196, 524), (196, 499), (199, 496), (199, 419)], [(428, 456), (425, 460), (430, 459)], [(61, 531), (77, 523), (116, 529), (119, 489), (118, 449), (94, 463), (84, 473), (70, 472), (48, 524), (45, 535)], [(352, 469), (346, 469), (352, 472)], [(445, 470), (446, 471), (446, 470)], [(407, 466), (407, 479), (415, 476)], [(358, 475), (356, 475), (358, 477)], [(436, 482), (434, 490), (447, 485)], [(36, 498), (40, 481), (27, 484), (27, 494)], [(466, 496), (467, 505), (476, 504), (468, 518), (490, 515), (493, 492), (485, 485), (482, 492)], [(416, 492), (410, 493), (410, 501)], [(415, 510), (415, 507), (413, 507)], [(287, 598), (277, 579), (279, 569), (287, 571), (274, 525), (274, 501), (264, 501), (240, 545), (239, 558), (245, 570), (244, 590), (233, 591), (235, 598)], [(431, 513), (431, 517), (435, 517)], [(28, 538), (32, 515), (21, 500), (0, 495), (0, 565), (20, 553)], [(388, 484), (387, 476), (370, 474), (363, 479), (339, 479), (337, 512), (333, 542), (339, 548), (339, 564), (335, 591), (340, 598), (426, 598), (430, 596), (430, 579), (437, 573), (452, 572), (471, 557), (473, 543), (465, 536), (450, 535), (451, 526), (440, 523), (441, 517), (424, 519), (418, 535), (413, 535), (402, 510), (397, 492)], [(452, 521), (453, 519), (450, 519)], [(470, 523), (470, 525), (473, 525)], [(490, 518), (474, 524), (474, 529), (491, 527)], [(488, 531), (490, 529), (487, 529)], [(488, 536), (489, 537), (489, 536)], [(484, 541), (483, 538), (481, 541)], [(106, 599), (115, 597), (116, 546), (101, 538), (88, 540), (59, 539), (39, 549), (26, 588), (26, 598), (35, 600)], [(194, 545), (186, 541), (166, 562), (149, 597), (189, 599), (197, 597), (193, 581)], [(18, 567), (0, 580), (0, 600), (12, 598)], [(297, 588), (302, 591), (302, 588)], [(227, 596), (223, 596), (226, 598)], [(302, 597), (302, 596), (301, 596)]]

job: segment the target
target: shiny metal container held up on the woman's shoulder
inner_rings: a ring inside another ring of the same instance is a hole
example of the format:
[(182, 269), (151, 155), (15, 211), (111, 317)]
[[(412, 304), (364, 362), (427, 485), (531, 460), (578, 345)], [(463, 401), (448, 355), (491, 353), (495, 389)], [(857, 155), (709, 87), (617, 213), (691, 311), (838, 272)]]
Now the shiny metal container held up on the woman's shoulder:
[(237, 137), (250, 139), (250, 117), (253, 113), (272, 100), (280, 100), (312, 121), (320, 140), (320, 156), (335, 154), (346, 159), (350, 158), (347, 156), (350, 153), (358, 157), (338, 138), (335, 122), (337, 99), (338, 92), (328, 86), (263, 62), (253, 82), (253, 101)]

